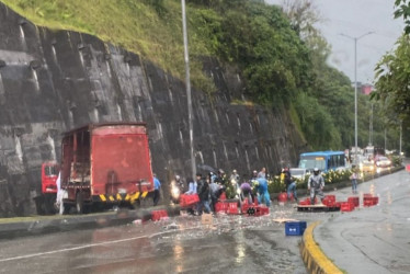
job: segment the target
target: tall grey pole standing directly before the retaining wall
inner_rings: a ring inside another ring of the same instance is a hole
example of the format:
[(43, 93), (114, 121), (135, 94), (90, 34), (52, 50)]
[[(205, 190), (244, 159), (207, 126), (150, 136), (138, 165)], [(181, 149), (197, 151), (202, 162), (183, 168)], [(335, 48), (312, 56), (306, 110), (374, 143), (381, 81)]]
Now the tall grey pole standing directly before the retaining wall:
[(190, 156), (191, 156), (191, 172), (192, 179), (195, 180), (196, 164), (194, 156), (194, 129), (193, 129), (193, 111), (191, 99), (191, 80), (190, 80), (190, 55), (187, 52), (187, 33), (186, 33), (186, 11), (185, 0), (181, 0), (182, 5), (182, 31), (184, 37), (184, 59), (185, 59), (185, 81), (186, 81), (186, 100), (187, 100), (187, 121), (190, 127)]

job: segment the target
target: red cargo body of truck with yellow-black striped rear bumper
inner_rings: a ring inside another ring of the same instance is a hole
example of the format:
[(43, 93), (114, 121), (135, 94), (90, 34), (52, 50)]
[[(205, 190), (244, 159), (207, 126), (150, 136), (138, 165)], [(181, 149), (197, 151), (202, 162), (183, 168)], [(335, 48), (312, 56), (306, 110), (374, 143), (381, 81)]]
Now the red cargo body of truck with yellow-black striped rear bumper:
[(64, 212), (93, 205), (134, 206), (153, 192), (145, 123), (90, 124), (61, 140)]

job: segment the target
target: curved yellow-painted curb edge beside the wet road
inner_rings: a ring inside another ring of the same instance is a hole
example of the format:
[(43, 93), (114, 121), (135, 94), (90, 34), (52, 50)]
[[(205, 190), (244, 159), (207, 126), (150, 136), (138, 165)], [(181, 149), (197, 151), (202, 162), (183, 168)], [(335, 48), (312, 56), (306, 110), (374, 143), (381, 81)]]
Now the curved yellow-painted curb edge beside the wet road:
[(315, 221), (305, 230), (300, 243), (300, 254), (305, 266), (309, 273), (337, 274), (343, 273), (332, 261), (321, 251), (314, 239), (314, 229), (320, 221)]

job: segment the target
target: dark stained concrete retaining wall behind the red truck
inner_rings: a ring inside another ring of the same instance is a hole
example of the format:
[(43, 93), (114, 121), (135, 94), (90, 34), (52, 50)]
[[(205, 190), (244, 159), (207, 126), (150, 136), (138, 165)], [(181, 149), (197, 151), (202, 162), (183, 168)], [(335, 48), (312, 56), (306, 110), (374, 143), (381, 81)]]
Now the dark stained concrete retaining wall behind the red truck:
[[(99, 122), (145, 121), (164, 185), (191, 173), (184, 83), (140, 56), (69, 31), (50, 31), (0, 3), (0, 217), (35, 213), (42, 162), (60, 159), (61, 133)], [(181, 53), (183, 54), (183, 53)], [(204, 59), (217, 92), (193, 90), (200, 171), (272, 173), (305, 149), (284, 111), (232, 104), (240, 72)], [(163, 189), (168, 199), (168, 189)]]

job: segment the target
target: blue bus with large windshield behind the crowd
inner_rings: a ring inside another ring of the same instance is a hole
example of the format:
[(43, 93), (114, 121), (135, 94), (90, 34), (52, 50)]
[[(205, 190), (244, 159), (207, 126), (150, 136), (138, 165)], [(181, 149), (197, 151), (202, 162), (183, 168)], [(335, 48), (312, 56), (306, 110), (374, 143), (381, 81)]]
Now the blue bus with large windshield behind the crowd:
[(300, 155), (298, 168), (308, 171), (318, 168), (321, 172), (344, 170), (346, 168), (345, 155), (344, 151), (305, 152)]

